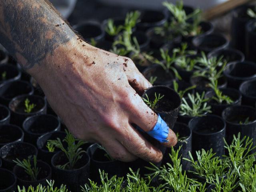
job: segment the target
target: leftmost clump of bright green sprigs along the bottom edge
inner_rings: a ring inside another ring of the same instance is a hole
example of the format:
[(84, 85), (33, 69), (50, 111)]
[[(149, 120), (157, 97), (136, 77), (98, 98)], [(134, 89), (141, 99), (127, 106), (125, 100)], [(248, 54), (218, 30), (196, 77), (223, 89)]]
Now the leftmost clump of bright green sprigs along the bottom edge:
[(36, 188), (29, 186), (27, 190), (24, 186), (23, 188), (20, 188), (20, 186), (18, 186), (18, 192), (68, 192), (66, 185), (61, 185), (60, 188), (54, 188), (54, 181), (46, 180), (46, 182), (48, 184), (47, 187), (39, 184), (38, 186), (36, 186)]

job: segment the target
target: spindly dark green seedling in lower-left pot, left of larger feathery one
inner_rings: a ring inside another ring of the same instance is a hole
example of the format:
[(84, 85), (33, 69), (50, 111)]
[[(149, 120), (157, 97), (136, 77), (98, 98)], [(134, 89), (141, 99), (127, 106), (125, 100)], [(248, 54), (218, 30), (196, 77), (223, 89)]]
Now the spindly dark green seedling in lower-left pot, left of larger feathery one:
[(20, 161), (18, 158), (16, 160), (13, 160), (18, 166), (22, 167), (25, 172), (30, 176), (32, 181), (37, 181), (37, 176), (41, 170), (41, 168), (38, 168), (36, 166), (37, 164), (37, 160), (36, 160), (36, 156), (34, 155), (33, 158), (33, 165), (31, 165), (30, 161), (31, 159), (28, 158), (28, 160), (24, 159), (22, 161)]

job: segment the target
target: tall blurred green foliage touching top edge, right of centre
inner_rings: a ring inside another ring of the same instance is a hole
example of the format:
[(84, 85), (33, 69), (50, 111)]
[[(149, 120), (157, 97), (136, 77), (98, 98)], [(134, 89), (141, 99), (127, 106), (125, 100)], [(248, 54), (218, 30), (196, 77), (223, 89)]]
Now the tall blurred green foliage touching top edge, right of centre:
[[(164, 2), (163, 5), (168, 8), (173, 15), (170, 23), (166, 23), (162, 27), (163, 32), (173, 32), (174, 34), (182, 34), (182, 36), (195, 36), (201, 33), (199, 26), (201, 22), (201, 10), (196, 9), (191, 14), (187, 15), (183, 9), (183, 2), (178, 1), (175, 4)], [(190, 20), (190, 22), (188, 22)], [(158, 28), (160, 31), (161, 28)]]

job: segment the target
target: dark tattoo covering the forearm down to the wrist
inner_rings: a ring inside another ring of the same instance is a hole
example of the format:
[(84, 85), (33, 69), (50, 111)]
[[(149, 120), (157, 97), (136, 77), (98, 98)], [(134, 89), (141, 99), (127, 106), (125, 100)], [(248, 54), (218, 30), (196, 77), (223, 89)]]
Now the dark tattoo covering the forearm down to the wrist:
[(25, 70), (74, 36), (45, 0), (0, 0), (0, 43)]

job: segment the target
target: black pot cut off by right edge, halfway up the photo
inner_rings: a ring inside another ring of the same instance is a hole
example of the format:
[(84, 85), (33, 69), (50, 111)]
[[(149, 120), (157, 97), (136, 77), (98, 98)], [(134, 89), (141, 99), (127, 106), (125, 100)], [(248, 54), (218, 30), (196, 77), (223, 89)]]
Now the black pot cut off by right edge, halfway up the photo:
[(245, 81), (239, 87), (242, 104), (256, 107), (256, 80)]

